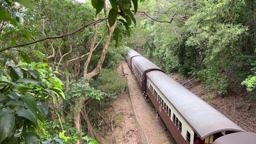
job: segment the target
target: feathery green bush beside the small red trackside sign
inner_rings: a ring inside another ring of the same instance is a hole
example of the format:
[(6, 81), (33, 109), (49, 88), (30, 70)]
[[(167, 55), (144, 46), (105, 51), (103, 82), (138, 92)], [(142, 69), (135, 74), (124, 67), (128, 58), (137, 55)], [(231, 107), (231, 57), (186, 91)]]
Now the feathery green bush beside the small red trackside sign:
[(126, 86), (126, 82), (119, 78), (118, 74), (113, 69), (101, 69), (98, 79), (102, 84), (101, 87), (105, 92), (121, 92)]

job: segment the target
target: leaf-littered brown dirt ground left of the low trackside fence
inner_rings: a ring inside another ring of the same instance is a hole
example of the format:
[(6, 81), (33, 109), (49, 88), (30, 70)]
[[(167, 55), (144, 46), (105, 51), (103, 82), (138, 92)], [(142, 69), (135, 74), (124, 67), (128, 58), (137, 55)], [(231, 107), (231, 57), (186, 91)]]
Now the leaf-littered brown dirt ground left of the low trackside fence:
[[(121, 73), (121, 65), (117, 68)], [(104, 141), (106, 144), (141, 144), (139, 131), (133, 116), (131, 100), (126, 92), (121, 93), (106, 110), (111, 119), (111, 135)], [(122, 120), (115, 127), (118, 115)]]

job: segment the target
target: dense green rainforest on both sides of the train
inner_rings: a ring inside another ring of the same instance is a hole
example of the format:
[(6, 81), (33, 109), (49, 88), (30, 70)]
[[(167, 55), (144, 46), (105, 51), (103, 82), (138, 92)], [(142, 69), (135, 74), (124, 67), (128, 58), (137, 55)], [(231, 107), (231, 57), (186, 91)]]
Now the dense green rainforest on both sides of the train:
[(255, 100), (255, 4), (0, 0), (0, 143), (104, 143), (125, 45), (194, 77), (209, 102), (238, 88)]

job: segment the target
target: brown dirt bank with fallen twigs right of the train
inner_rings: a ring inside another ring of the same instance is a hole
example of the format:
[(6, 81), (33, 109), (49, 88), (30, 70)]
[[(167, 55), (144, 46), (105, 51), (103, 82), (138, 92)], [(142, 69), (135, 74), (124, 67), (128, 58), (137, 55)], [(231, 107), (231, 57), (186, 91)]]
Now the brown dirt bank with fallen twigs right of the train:
[[(205, 102), (208, 102), (205, 88), (202, 84), (198, 84), (194, 78), (183, 79), (177, 74), (172, 74), (170, 77)], [(208, 103), (213, 108), (217, 109), (246, 132), (256, 133), (256, 104), (250, 101), (248, 92), (242, 86), (231, 90), (228, 96), (221, 97), (217, 92), (213, 92), (210, 97)]]

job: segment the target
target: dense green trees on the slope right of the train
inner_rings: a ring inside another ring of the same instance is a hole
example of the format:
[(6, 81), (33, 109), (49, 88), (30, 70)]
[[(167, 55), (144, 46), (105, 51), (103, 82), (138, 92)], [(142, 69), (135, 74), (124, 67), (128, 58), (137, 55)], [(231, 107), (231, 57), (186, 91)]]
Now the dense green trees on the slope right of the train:
[[(167, 14), (154, 12), (159, 8)], [(170, 21), (174, 13), (187, 15), (172, 24), (137, 17), (140, 23), (128, 43), (143, 48), (143, 55), (167, 73), (195, 76), (207, 93), (224, 96), (255, 72), (254, 2), (160, 0), (145, 2), (140, 9), (159, 21)]]

